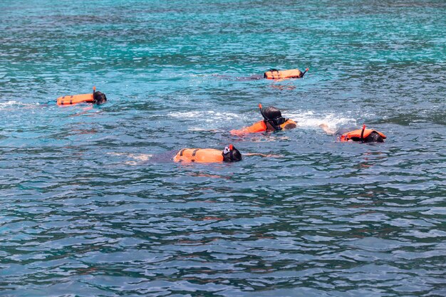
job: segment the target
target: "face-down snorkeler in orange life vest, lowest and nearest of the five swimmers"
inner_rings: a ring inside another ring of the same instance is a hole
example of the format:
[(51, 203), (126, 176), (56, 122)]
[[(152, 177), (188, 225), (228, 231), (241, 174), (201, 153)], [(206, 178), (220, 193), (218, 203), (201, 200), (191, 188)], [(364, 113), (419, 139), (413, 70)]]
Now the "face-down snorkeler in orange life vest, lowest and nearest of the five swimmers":
[(177, 152), (173, 160), (174, 162), (185, 163), (237, 162), (242, 160), (242, 154), (233, 145), (224, 147), (224, 150), (184, 148), (180, 152)]

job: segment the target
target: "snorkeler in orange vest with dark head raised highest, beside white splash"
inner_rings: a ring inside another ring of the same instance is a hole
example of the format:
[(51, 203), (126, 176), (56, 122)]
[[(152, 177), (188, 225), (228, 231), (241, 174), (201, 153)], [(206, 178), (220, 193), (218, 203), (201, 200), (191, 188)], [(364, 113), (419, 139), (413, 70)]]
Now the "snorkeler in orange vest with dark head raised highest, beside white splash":
[(294, 120), (290, 120), (282, 117), (282, 113), (280, 110), (275, 108), (274, 106), (269, 106), (268, 108), (262, 108), (261, 104), (259, 104), (261, 116), (264, 120), (260, 120), (257, 123), (249, 127), (244, 127), (239, 130), (231, 130), (229, 131), (232, 135), (245, 135), (248, 133), (256, 133), (256, 132), (264, 132), (264, 131), (280, 131), (280, 130), (289, 130), (297, 127), (296, 122)]

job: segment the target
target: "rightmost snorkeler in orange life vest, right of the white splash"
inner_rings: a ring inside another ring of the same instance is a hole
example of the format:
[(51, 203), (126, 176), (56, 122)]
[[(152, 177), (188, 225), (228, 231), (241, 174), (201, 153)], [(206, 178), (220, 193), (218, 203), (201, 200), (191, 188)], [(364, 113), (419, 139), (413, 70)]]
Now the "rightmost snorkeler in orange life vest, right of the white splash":
[(384, 142), (387, 138), (383, 133), (373, 129), (365, 129), (363, 125), (362, 129), (355, 128), (343, 128), (337, 131), (333, 131), (328, 128), (328, 125), (321, 124), (319, 127), (328, 135), (336, 135), (339, 141), (353, 141), (353, 142)]

